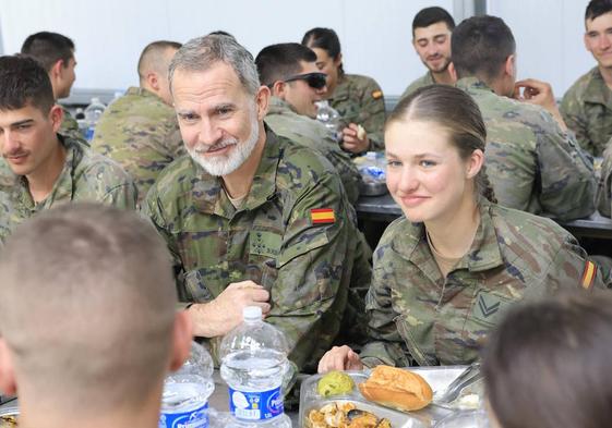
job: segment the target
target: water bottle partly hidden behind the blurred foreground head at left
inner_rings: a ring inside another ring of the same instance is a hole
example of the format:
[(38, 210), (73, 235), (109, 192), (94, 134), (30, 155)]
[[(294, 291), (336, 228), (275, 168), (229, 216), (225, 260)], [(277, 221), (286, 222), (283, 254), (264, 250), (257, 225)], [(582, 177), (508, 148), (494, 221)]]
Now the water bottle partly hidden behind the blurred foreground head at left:
[(189, 359), (164, 382), (159, 428), (207, 428), (208, 398), (215, 389), (213, 358), (192, 342)]

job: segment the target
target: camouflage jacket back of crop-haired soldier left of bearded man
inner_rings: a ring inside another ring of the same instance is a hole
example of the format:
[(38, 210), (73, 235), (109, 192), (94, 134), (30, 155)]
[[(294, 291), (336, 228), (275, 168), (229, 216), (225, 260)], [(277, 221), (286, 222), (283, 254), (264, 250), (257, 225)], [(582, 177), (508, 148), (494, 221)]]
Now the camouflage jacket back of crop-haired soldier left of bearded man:
[(104, 111), (92, 148), (132, 175), (142, 203), (159, 172), (184, 151), (175, 109), (155, 94), (131, 87)]

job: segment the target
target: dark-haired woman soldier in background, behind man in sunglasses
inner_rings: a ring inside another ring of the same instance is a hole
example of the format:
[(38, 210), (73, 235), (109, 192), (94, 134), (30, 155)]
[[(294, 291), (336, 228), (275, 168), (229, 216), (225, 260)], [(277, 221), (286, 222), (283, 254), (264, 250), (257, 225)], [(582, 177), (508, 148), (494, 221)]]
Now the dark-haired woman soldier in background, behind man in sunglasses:
[[(385, 99), (381, 86), (372, 77), (345, 73), (340, 40), (333, 29), (312, 28), (304, 34), (302, 45), (316, 53), (316, 66), (327, 74), (325, 98), (343, 118), (343, 148), (353, 154), (384, 149)], [(365, 133), (359, 132), (358, 125)]]

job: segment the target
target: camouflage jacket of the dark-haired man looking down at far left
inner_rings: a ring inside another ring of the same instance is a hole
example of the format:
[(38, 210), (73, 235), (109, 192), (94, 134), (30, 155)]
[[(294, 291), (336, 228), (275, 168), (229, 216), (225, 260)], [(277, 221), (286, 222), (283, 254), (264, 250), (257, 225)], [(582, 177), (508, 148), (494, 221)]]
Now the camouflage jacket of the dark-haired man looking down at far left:
[(132, 179), (117, 163), (92, 151), (81, 140), (63, 138), (65, 162), (51, 193), (34, 203), (25, 176), (15, 175), (0, 159), (0, 241), (37, 212), (68, 201), (98, 201), (135, 209), (136, 189)]

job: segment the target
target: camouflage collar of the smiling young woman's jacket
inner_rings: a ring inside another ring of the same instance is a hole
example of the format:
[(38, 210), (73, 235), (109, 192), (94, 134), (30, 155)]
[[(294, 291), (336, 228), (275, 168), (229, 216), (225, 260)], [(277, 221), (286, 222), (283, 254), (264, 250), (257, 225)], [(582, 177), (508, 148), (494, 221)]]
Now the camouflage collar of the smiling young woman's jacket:
[[(456, 269), (468, 269), (471, 272), (479, 272), (504, 265), (497, 243), (497, 234), (491, 217), (492, 205), (484, 198), (480, 199), (480, 224), (468, 254), (459, 260)], [(433, 264), (435, 261), (433, 261), (433, 256), (431, 256), (427, 243), (424, 224), (410, 223), (407, 219), (404, 221), (405, 227), (393, 240), (392, 247), (399, 256), (419, 266), (427, 273), (427, 266), (431, 264), (423, 266), (423, 255), (425, 255), (425, 258), (431, 259)]]

